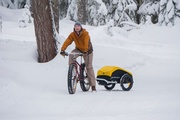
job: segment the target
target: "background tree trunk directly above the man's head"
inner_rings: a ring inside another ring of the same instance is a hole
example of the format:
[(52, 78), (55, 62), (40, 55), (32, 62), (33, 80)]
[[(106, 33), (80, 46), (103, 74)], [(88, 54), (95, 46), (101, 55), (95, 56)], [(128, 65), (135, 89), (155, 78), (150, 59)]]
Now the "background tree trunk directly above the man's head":
[(86, 24), (86, 0), (78, 0), (77, 2), (78, 6), (78, 21), (82, 24)]

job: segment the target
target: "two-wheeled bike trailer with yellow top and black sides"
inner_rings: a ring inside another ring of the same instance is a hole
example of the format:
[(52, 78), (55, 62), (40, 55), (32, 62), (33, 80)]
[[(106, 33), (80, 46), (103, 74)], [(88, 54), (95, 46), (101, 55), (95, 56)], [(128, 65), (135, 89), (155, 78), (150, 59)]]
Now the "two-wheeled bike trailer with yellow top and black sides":
[(112, 90), (120, 84), (124, 91), (129, 91), (133, 86), (132, 73), (118, 66), (104, 66), (97, 72), (97, 83), (107, 90)]

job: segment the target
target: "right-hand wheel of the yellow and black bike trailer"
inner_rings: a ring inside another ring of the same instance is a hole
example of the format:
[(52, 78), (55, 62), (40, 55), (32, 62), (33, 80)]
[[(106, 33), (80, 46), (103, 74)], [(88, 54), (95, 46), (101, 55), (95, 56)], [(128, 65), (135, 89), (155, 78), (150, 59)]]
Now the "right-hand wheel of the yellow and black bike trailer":
[(121, 77), (120, 85), (124, 91), (129, 91), (133, 86), (133, 78), (128, 73)]

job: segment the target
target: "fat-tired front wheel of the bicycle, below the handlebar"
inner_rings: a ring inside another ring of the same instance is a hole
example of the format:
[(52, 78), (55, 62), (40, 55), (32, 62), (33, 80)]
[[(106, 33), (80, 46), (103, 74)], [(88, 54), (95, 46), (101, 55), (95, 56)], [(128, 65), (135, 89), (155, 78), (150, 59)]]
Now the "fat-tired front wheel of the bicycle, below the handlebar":
[(76, 92), (76, 86), (77, 86), (77, 71), (76, 66), (74, 64), (69, 65), (68, 70), (68, 92), (69, 94), (74, 94)]

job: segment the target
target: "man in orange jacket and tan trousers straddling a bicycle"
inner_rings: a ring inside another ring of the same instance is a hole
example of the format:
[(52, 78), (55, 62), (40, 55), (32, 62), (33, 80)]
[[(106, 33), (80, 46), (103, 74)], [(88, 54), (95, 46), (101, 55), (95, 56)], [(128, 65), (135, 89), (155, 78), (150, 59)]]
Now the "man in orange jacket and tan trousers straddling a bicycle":
[[(70, 33), (68, 38), (63, 43), (61, 47), (61, 52), (60, 52), (61, 55), (65, 56), (65, 50), (72, 42), (74, 42), (76, 46), (76, 48), (72, 51), (72, 53), (85, 54), (83, 58), (86, 65), (90, 86), (91, 86), (92, 91), (96, 91), (96, 81), (95, 81), (94, 69), (92, 66), (93, 47), (90, 41), (89, 33), (86, 31), (86, 29), (82, 28), (82, 25), (80, 22), (76, 22), (74, 24), (74, 31)], [(73, 62), (73, 55), (70, 54), (69, 65), (72, 62)]]

